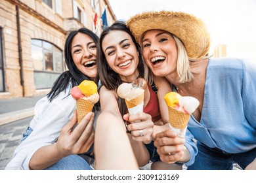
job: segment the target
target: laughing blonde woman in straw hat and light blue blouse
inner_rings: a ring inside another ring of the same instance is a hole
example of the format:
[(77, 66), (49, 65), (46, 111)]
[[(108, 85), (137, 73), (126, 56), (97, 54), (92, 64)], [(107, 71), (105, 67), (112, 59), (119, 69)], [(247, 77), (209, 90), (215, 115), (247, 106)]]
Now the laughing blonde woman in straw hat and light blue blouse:
[[(196, 139), (197, 146), (184, 154), (188, 160), (184, 163), (194, 162), (188, 169), (232, 169), (233, 163), (245, 169), (251, 162), (249, 167), (255, 167), (256, 97), (251, 93), (256, 92), (256, 64), (207, 56), (207, 27), (192, 14), (144, 12), (130, 18), (127, 25), (142, 47), (158, 91), (164, 90), (167, 80), (173, 91), (200, 101), (186, 132), (186, 141)], [(163, 96), (158, 97), (164, 102)], [(161, 111), (167, 113), (167, 106)], [(161, 112), (161, 116), (168, 121), (168, 114)], [(167, 163), (175, 156), (168, 152), (169, 131), (158, 133), (154, 142)]]

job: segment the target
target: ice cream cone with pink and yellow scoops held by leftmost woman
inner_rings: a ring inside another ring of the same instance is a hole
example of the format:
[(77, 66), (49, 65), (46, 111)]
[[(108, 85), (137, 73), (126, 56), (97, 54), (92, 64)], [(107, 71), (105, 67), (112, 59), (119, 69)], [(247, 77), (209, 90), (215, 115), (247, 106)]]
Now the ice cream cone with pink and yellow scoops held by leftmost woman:
[(79, 86), (72, 88), (71, 95), (76, 101), (78, 123), (88, 112), (93, 110), (93, 106), (98, 102), (97, 90), (95, 82), (91, 80), (83, 80)]

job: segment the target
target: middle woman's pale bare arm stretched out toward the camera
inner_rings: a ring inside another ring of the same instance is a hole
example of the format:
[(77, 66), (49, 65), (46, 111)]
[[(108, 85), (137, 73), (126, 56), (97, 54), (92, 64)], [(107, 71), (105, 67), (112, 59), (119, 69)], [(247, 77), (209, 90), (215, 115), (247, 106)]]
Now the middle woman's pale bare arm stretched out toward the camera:
[(95, 169), (139, 169), (125, 126), (110, 112), (96, 122), (95, 163)]

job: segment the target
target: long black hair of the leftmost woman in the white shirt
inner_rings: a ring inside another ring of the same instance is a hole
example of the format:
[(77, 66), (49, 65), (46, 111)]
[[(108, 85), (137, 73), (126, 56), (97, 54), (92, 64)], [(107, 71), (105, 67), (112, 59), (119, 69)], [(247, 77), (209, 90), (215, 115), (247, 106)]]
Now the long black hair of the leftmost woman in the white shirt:
[[(74, 60), (72, 58), (71, 42), (74, 39), (75, 35), (77, 35), (77, 33), (83, 33), (85, 35), (88, 35), (89, 37), (91, 37), (91, 39), (93, 39), (95, 44), (97, 44), (98, 42), (98, 36), (95, 33), (93, 33), (93, 31), (85, 27), (81, 27), (80, 29), (70, 31), (70, 33), (68, 34), (68, 37), (66, 38), (66, 42), (64, 46), (64, 57), (65, 57), (66, 67), (68, 67), (68, 71), (65, 71), (60, 76), (58, 76), (58, 78), (53, 84), (53, 88), (51, 89), (51, 92), (47, 94), (47, 97), (50, 102), (53, 101), (53, 99), (60, 92), (66, 91), (70, 83), (71, 83), (71, 87), (70, 87), (71, 89), (74, 86), (77, 86), (78, 84), (80, 84), (83, 80), (92, 80), (91, 78), (89, 78), (89, 76), (84, 75), (83, 73), (81, 73), (81, 71), (79, 71), (79, 69), (77, 69), (77, 67), (75, 66)], [(70, 91), (68, 95), (70, 95)], [(98, 104), (95, 105), (95, 107), (97, 106)]]

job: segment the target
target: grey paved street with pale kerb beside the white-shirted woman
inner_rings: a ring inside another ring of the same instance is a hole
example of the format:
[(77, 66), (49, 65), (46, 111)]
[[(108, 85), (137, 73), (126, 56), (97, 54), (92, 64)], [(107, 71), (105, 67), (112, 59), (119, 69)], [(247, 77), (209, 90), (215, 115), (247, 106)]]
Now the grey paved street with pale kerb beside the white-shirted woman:
[(0, 100), (0, 170), (12, 154), (30, 124), (35, 103), (44, 95)]

